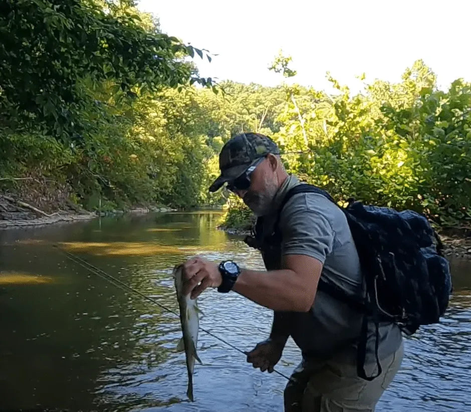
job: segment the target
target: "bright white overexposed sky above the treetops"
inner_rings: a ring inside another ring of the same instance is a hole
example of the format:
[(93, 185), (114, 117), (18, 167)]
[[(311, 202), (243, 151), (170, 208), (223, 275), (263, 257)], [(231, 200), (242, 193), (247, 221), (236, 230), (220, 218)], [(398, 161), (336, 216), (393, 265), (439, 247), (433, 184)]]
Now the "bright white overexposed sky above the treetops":
[(140, 0), (161, 30), (207, 49), (196, 56), (200, 75), (273, 86), (286, 81), (268, 70), (278, 51), (293, 58), (293, 82), (331, 91), (326, 72), (352, 91), (355, 78), (400, 81), (417, 59), (439, 88), (471, 81), (471, 0)]

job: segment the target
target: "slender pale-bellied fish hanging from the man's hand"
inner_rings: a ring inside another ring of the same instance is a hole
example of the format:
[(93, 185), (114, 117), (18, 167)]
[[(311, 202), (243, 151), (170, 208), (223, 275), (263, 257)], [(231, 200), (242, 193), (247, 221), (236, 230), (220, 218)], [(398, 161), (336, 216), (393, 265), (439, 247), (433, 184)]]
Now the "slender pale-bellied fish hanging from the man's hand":
[(173, 268), (173, 278), (175, 283), (175, 292), (180, 311), (180, 324), (182, 337), (178, 342), (177, 350), (184, 351), (186, 357), (186, 370), (188, 372), (188, 387), (186, 395), (193, 402), (193, 370), (195, 360), (202, 364), (196, 353), (198, 343), (199, 315), (202, 314), (198, 308), (197, 299), (191, 299), (189, 292), (183, 295), (183, 265), (176, 265)]

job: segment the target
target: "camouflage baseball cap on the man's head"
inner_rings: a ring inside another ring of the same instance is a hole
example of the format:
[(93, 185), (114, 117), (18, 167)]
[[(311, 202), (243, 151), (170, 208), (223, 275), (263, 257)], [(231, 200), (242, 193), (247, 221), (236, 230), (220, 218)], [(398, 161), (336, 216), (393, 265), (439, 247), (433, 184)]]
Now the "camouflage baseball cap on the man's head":
[(209, 186), (209, 191), (216, 191), (225, 182), (239, 177), (268, 153), (280, 154), (278, 146), (268, 136), (260, 133), (241, 133), (231, 137), (219, 153), (221, 174)]

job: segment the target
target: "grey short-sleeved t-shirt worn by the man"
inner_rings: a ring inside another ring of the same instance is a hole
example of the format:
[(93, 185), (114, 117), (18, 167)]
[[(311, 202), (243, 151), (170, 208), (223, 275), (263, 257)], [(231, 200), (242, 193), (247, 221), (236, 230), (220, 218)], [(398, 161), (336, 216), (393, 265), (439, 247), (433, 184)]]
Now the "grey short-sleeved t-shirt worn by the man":
[[(294, 175), (285, 180), (274, 198), (274, 211), (288, 190), (299, 183)], [(273, 231), (275, 219), (275, 214), (265, 218), (264, 233)], [(363, 296), (360, 263), (347, 220), (328, 198), (319, 193), (295, 194), (281, 213), (279, 229), (283, 236), (280, 258), (290, 254), (313, 257), (323, 263), (322, 277), (350, 294)], [(304, 356), (323, 360), (334, 356), (337, 361), (355, 363), (362, 315), (347, 303), (318, 290), (310, 312), (286, 315), (290, 316), (290, 334)], [(373, 323), (368, 335), (366, 361), (373, 363)], [(380, 324), (379, 338), (380, 359), (395, 352), (402, 341), (399, 327), (389, 322)]]

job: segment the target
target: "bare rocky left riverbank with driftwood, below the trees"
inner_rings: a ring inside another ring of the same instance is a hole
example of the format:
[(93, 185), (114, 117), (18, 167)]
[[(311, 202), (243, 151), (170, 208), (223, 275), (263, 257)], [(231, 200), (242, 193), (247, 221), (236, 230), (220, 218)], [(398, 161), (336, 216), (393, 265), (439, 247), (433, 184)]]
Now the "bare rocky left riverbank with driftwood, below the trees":
[(129, 210), (113, 210), (109, 212), (90, 212), (68, 201), (62, 209), (46, 213), (31, 203), (18, 197), (0, 194), (0, 229), (18, 228), (25, 226), (51, 225), (59, 222), (76, 222), (95, 219), (99, 216), (122, 215), (125, 213), (144, 214), (150, 212), (173, 212), (167, 207), (134, 207)]

